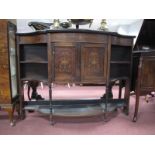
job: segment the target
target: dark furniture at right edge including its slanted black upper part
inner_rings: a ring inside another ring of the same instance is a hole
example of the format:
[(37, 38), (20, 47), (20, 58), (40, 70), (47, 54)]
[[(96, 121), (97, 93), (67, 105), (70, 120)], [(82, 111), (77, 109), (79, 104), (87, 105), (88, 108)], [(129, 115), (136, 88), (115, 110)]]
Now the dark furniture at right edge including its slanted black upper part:
[(137, 121), (139, 97), (155, 91), (155, 20), (145, 19), (133, 52), (131, 90), (136, 93), (133, 121)]

